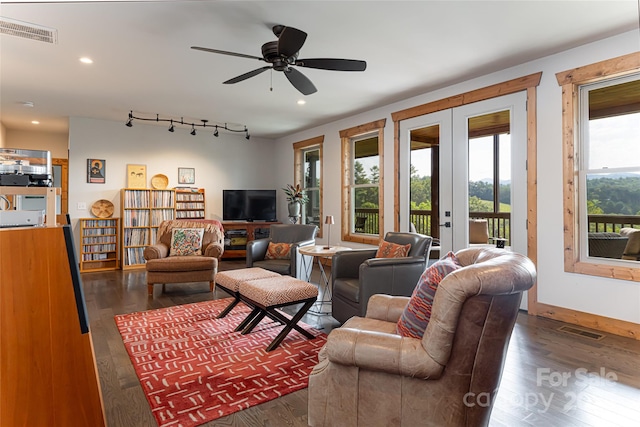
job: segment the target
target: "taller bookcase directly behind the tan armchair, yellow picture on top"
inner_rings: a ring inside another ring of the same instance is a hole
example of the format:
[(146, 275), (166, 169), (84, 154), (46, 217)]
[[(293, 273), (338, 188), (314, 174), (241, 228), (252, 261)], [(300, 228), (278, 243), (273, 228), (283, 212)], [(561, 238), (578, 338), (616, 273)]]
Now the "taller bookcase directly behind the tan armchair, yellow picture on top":
[(156, 242), (160, 223), (175, 218), (175, 191), (123, 188), (122, 269), (142, 267), (146, 246)]

